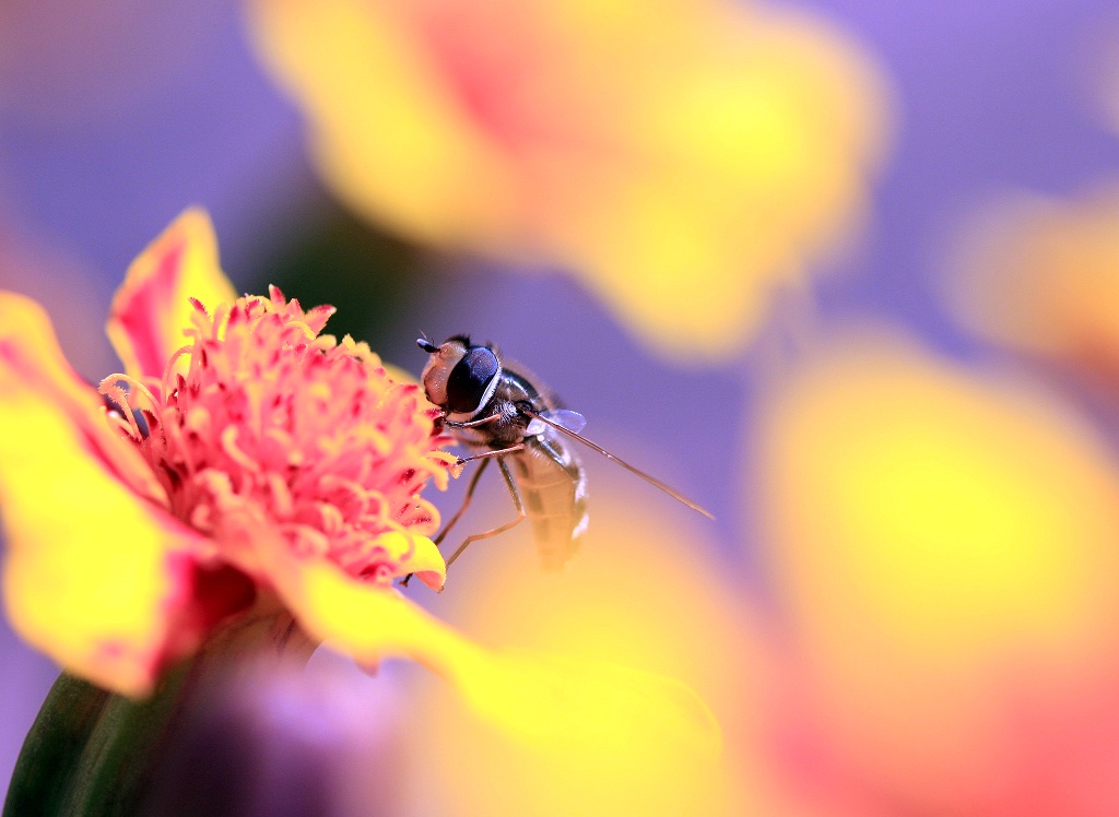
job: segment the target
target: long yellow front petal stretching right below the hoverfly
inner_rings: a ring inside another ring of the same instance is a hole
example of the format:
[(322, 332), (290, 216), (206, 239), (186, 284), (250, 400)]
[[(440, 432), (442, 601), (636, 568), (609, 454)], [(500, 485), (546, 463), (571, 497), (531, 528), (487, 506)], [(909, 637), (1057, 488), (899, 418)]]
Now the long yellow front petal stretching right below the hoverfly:
[(451, 680), (476, 713), (528, 744), (598, 742), (619, 753), (636, 738), (718, 754), (720, 730), (692, 689), (605, 664), (483, 649), (399, 593), (356, 582), (326, 563), (276, 554), (278, 590), (303, 629), (358, 661), (412, 658)]

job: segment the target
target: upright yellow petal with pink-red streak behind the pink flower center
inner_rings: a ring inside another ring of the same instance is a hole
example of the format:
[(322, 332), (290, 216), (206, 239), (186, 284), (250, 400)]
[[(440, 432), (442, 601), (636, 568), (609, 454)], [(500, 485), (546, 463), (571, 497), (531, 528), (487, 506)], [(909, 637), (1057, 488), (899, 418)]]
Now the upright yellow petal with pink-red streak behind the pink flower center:
[(190, 298), (209, 309), (236, 298), (218, 264), (214, 225), (199, 208), (186, 210), (140, 253), (113, 298), (105, 329), (126, 374), (163, 375), (186, 342)]

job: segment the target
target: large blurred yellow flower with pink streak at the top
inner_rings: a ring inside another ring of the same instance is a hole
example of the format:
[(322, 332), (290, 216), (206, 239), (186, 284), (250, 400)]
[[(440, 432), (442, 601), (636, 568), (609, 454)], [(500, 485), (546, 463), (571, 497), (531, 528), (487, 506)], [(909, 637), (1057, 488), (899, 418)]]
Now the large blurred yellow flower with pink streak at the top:
[(865, 217), (882, 79), (838, 31), (720, 0), (254, 0), (328, 182), (416, 240), (579, 274), (717, 359)]

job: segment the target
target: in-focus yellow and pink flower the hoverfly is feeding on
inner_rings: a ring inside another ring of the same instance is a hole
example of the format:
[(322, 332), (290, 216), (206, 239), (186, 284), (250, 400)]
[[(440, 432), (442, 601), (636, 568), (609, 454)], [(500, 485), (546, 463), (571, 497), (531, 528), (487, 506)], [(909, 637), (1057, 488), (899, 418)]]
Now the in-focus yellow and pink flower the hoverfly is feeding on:
[(392, 586), (412, 572), (442, 586), (427, 537), (439, 515), (420, 492), (445, 485), (457, 458), (419, 385), (394, 382), (365, 344), (321, 334), (332, 311), (274, 288), (235, 298), (209, 219), (188, 210), (113, 302), (126, 372), (103, 381), (106, 410), (41, 308), (0, 292), (12, 627), (129, 696), (200, 648), (248, 664), (252, 650), (305, 658), (330, 640), (366, 666), (423, 664), (513, 740), (624, 742), (642, 724), (689, 762), (716, 757), (718, 727), (683, 684), (485, 649)]

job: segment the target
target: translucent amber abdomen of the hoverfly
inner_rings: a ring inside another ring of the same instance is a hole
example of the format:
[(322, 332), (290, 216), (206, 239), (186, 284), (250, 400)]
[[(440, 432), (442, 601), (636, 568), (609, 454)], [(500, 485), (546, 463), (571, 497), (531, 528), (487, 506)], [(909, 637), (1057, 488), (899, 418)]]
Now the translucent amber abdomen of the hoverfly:
[(586, 479), (579, 458), (552, 435), (525, 439), (510, 458), (545, 570), (560, 570), (586, 529)]

